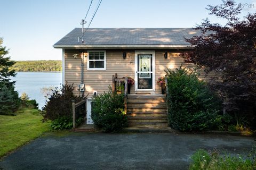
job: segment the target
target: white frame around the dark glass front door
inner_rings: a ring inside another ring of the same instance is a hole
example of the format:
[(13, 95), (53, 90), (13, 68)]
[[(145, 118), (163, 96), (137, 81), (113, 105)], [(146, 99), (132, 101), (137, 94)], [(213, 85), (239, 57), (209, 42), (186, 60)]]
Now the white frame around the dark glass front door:
[[(153, 89), (138, 89), (138, 54), (151, 54), (152, 55), (152, 71), (153, 78), (152, 84)], [(134, 64), (134, 80), (135, 80), (135, 91), (150, 91), (155, 92), (155, 50), (135, 50), (135, 64)]]

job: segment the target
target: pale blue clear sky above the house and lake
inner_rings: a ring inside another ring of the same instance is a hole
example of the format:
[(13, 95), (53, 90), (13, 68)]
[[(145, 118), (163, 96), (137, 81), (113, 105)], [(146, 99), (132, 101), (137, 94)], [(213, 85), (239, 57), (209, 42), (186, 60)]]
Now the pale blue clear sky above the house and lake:
[[(81, 28), (91, 0), (0, 0), (0, 37), (11, 60), (61, 60), (61, 49), (52, 46), (74, 28)], [(85, 21), (89, 23), (99, 0), (93, 0)], [(254, 4), (242, 15), (256, 12)], [(90, 28), (188, 28), (202, 19), (224, 24), (208, 15), (209, 5), (221, 0), (102, 0)], [(85, 24), (87, 27), (87, 24)]]

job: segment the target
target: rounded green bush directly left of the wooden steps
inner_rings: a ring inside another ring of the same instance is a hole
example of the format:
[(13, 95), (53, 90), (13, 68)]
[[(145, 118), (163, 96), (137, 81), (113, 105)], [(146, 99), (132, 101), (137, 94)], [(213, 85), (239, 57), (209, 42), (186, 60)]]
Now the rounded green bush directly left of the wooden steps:
[(124, 112), (124, 96), (111, 92), (94, 96), (92, 100), (92, 120), (104, 132), (118, 132), (127, 126)]

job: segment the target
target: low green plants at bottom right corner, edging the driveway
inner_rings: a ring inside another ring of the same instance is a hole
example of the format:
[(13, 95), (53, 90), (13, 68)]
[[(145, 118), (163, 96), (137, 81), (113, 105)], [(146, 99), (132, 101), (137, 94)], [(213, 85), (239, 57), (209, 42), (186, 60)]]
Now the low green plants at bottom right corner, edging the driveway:
[(256, 169), (255, 161), (255, 151), (253, 154), (250, 153), (247, 159), (244, 159), (242, 156), (231, 157), (230, 155), (225, 155), (221, 157), (217, 150), (213, 150), (210, 154), (203, 149), (199, 149), (191, 156), (192, 163), (189, 166), (191, 170), (198, 169), (219, 169), (219, 170), (250, 170)]

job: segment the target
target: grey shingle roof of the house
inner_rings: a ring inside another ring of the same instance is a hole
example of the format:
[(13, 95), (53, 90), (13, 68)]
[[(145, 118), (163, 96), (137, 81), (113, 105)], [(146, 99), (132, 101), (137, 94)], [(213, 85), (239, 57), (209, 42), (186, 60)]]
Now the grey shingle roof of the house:
[(199, 30), (193, 28), (89, 28), (84, 43), (78, 42), (82, 28), (75, 28), (55, 45), (189, 45), (185, 41)]

